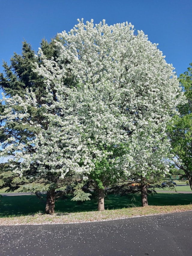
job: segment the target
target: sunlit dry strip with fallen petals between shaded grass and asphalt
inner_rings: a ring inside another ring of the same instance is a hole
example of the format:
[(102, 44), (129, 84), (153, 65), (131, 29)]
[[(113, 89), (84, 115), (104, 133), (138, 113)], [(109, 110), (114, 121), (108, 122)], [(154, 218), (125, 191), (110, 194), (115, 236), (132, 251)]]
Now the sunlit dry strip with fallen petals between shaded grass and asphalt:
[(94, 221), (107, 221), (124, 219), (138, 216), (165, 214), (171, 212), (191, 211), (192, 204), (173, 206), (147, 206), (133, 207), (116, 210), (105, 210), (102, 212), (73, 212), (55, 213), (53, 215), (39, 214), (19, 217), (0, 218), (0, 225), (37, 225), (37, 224), (68, 224)]

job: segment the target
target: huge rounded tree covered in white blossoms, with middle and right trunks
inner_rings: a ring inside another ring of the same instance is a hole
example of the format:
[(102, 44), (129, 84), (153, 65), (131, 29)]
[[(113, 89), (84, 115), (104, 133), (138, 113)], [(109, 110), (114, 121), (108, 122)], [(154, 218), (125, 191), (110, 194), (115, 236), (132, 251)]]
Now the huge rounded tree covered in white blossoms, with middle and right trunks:
[[(105, 187), (140, 176), (147, 205), (144, 180), (168, 172), (165, 129), (183, 99), (172, 65), (128, 23), (94, 26), (81, 20), (58, 37), (58, 58), (47, 59), (40, 49), (35, 70), (44, 77), (46, 104), (37, 106), (33, 92), (25, 100), (4, 98), (7, 122), (24, 126), (27, 120), (35, 127), (33, 140), (26, 137), (33, 153), (13, 140), (3, 154), (16, 152), (13, 166), (24, 159), (14, 166), (20, 175), (33, 163), (39, 175), (56, 170), (61, 178), (70, 172), (89, 179), (98, 192), (98, 210), (104, 210)], [(30, 120), (31, 107), (41, 110), (46, 126)]]

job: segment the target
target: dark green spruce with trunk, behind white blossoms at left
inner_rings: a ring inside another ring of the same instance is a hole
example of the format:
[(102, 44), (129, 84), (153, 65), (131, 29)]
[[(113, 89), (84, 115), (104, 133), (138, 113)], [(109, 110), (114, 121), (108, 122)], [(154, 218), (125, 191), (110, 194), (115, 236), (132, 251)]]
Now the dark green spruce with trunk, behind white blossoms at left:
[[(46, 55), (47, 59), (56, 59), (56, 51), (54, 48), (55, 38), (50, 43), (46, 40), (42, 40), (41, 49)], [(1, 118), (1, 130), (0, 130), (0, 142), (4, 144), (4, 147), (12, 143), (12, 139), (19, 143), (25, 143), (27, 140), (32, 140), (35, 137), (35, 130), (30, 122), (38, 123), (47, 129), (48, 123), (44, 122), (43, 113), (44, 110), (41, 108), (43, 104), (47, 104), (43, 97), (46, 95), (46, 88), (43, 82), (43, 78), (34, 72), (34, 63), (40, 65), (40, 59), (35, 55), (34, 50), (31, 45), (26, 41), (22, 43), (22, 54), (18, 55), (14, 53), (13, 57), (10, 59), (10, 66), (6, 62), (3, 62), (4, 72), (0, 74), (0, 88), (3, 90), (6, 97), (13, 97), (18, 95), (18, 97), (25, 98), (26, 91), (35, 92), (35, 99), (39, 106), (38, 111), (32, 106), (28, 108), (29, 119), (26, 120), (25, 125), (19, 124), (17, 120), (14, 122), (7, 123), (6, 118)], [(53, 91), (54, 93), (54, 91)], [(56, 97), (56, 96), (55, 96)], [(14, 106), (15, 111), (22, 111), (20, 104)], [(4, 105), (0, 104), (0, 114), (4, 113)], [(32, 146), (28, 145), (26, 149), (29, 153), (33, 154), (35, 150)], [(9, 157), (14, 157), (15, 152), (10, 152)], [(20, 165), (20, 163), (17, 163)], [(46, 168), (46, 166), (45, 166)], [(47, 167), (48, 168), (48, 167)], [(58, 166), (58, 168), (60, 168)], [(38, 191), (47, 191), (46, 199), (46, 209), (45, 212), (48, 214), (54, 213), (55, 207), (55, 189), (67, 185), (69, 182), (74, 182), (75, 178), (65, 177), (60, 179), (57, 173), (46, 173), (46, 175), (38, 176), (37, 168), (31, 164), (30, 170), (23, 173), (22, 177), (19, 177), (18, 173), (14, 172), (14, 168), (11, 168), (9, 164), (1, 164), (0, 172), (0, 188), (7, 187), (7, 191), (22, 191), (28, 192), (32, 191), (38, 194)], [(79, 186), (82, 187), (83, 183)], [(82, 198), (89, 199), (81, 188), (76, 186), (76, 191), (79, 194), (79, 199)], [(67, 193), (70, 191), (68, 190)]]

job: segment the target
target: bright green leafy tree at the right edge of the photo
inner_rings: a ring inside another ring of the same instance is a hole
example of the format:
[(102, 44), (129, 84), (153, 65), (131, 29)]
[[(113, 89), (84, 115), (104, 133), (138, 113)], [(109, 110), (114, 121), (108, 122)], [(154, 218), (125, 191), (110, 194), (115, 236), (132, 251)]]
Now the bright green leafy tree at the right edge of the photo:
[(179, 116), (174, 117), (174, 123), (169, 126), (168, 132), (173, 148), (173, 161), (186, 174), (192, 190), (192, 63), (180, 75), (179, 82), (187, 100), (178, 107)]

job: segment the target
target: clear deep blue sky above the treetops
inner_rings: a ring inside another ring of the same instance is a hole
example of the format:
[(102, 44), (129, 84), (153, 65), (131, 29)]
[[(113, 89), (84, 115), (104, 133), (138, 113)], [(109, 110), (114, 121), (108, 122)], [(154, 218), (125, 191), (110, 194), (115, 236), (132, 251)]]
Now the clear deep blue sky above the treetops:
[(58, 32), (70, 31), (78, 18), (105, 19), (108, 25), (131, 22), (159, 44), (178, 75), (192, 62), (191, 0), (0, 0), (0, 7), (1, 63), (9, 63), (13, 52), (21, 53), (23, 39), (37, 51), (42, 38), (50, 41)]

